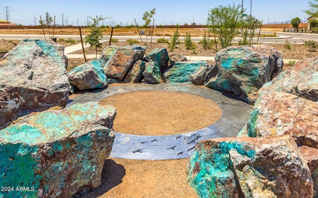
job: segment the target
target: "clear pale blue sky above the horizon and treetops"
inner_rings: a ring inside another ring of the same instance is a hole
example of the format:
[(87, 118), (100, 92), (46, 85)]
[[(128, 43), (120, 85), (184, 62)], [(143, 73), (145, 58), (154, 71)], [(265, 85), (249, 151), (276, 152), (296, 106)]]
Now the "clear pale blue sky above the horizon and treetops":
[[(303, 10), (308, 9), (309, 0), (243, 0), (245, 13), (251, 13), (263, 24), (281, 23), (299, 17), (303, 22), (309, 17)], [(45, 12), (56, 17), (56, 24), (84, 25), (87, 17), (111, 17), (102, 23), (131, 25), (134, 18), (142, 25), (145, 11), (156, 8), (155, 25), (206, 24), (208, 10), (219, 5), (241, 4), (242, 0), (1, 0), (0, 20), (23, 25), (38, 25)], [(88, 18), (88, 20), (90, 20)], [(100, 24), (102, 25), (102, 24)]]

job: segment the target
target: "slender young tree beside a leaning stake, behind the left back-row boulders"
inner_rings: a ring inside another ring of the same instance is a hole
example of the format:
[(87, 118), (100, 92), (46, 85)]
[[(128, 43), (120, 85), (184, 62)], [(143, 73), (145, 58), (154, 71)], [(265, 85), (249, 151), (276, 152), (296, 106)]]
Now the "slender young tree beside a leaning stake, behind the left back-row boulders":
[(103, 38), (102, 31), (100, 27), (98, 26), (98, 24), (100, 21), (102, 21), (105, 18), (102, 18), (101, 15), (99, 17), (96, 16), (96, 18), (92, 18), (92, 17), (89, 17), (89, 18), (92, 20), (92, 22), (91, 21), (88, 22), (90, 34), (88, 34), (85, 37), (84, 42), (85, 44), (88, 43), (90, 47), (96, 49), (96, 58), (97, 58), (97, 49), (101, 48), (102, 46), (99, 41)]

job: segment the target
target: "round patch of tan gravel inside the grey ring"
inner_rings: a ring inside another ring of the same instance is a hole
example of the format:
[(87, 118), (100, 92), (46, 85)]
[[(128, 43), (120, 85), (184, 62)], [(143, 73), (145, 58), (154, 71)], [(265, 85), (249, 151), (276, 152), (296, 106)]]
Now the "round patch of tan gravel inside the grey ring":
[(117, 109), (114, 131), (143, 136), (188, 133), (208, 127), (222, 116), (221, 108), (201, 96), (173, 91), (135, 91), (99, 100)]

